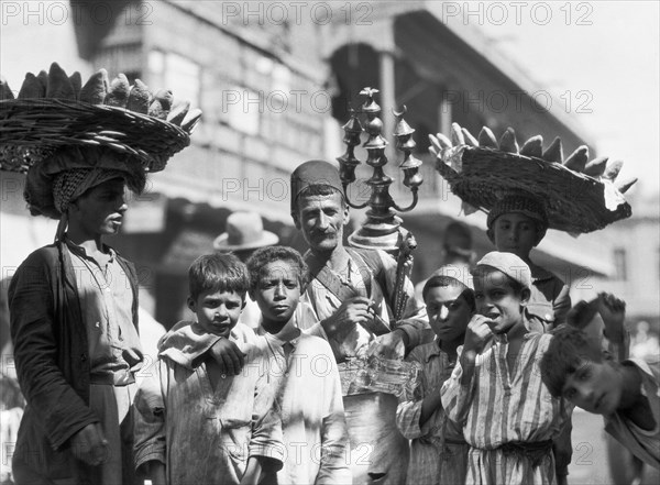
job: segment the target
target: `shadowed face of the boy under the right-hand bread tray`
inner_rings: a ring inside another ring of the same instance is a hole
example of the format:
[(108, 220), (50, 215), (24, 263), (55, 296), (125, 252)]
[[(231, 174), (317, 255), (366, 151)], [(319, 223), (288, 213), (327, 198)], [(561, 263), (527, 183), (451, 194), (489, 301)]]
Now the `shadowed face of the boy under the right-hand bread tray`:
[(536, 221), (518, 212), (504, 213), (493, 222), (493, 239), (497, 251), (527, 260), (537, 242)]

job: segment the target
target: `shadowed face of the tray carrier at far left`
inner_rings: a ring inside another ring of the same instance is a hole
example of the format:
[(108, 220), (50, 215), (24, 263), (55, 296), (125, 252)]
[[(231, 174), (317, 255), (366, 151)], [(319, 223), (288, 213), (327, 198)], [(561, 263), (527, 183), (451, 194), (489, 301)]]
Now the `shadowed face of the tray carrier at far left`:
[(69, 205), (69, 218), (89, 236), (116, 234), (128, 209), (124, 194), (121, 178), (99, 184)]

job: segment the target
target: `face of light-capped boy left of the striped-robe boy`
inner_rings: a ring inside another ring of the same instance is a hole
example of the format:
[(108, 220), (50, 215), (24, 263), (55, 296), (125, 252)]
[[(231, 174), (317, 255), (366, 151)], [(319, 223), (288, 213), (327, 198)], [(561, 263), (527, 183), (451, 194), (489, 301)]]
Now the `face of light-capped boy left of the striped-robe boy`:
[(452, 341), (465, 333), (472, 310), (459, 285), (430, 288), (426, 297), (429, 323), (438, 339)]

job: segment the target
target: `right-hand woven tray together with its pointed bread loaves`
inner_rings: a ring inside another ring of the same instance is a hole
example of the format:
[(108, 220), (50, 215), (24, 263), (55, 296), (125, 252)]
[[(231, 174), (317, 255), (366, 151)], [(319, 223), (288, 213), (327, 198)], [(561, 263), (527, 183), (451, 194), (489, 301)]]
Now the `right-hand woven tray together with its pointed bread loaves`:
[(606, 157), (588, 162), (586, 146), (564, 158), (560, 139), (543, 150), (537, 135), (518, 147), (510, 128), (497, 141), (484, 126), (477, 140), (457, 123), (451, 140), (440, 133), (429, 137), (438, 157), (436, 168), (463, 200), (465, 213), (490, 212), (512, 194), (524, 195), (542, 202), (549, 228), (573, 234), (631, 214), (624, 192), (637, 179), (616, 180), (623, 162)]

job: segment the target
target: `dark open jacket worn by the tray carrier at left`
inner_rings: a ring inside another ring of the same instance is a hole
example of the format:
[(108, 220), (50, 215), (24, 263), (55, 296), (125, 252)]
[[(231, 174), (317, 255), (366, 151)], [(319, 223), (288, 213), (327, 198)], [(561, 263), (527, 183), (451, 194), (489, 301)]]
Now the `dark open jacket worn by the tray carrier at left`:
[[(138, 326), (135, 268), (117, 257), (131, 282)], [(56, 243), (30, 254), (11, 279), (9, 308), (16, 374), (28, 401), (14, 451), (16, 483), (22, 472), (30, 481), (74, 474), (87, 482), (86, 466), (70, 453), (69, 439), (99, 420), (88, 407), (87, 330), (68, 251)]]

